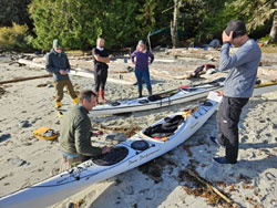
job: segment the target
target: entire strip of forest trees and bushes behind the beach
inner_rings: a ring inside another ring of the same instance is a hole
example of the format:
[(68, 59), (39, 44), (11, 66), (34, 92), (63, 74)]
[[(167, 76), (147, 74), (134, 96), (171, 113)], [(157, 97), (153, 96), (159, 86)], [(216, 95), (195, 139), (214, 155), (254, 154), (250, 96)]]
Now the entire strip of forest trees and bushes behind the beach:
[(245, 21), (250, 38), (276, 44), (276, 0), (1, 0), (0, 50), (49, 51), (60, 39), (66, 50), (86, 51), (98, 37), (123, 50), (150, 34), (153, 46), (171, 48), (172, 25), (176, 46), (202, 46), (220, 40), (232, 19)]

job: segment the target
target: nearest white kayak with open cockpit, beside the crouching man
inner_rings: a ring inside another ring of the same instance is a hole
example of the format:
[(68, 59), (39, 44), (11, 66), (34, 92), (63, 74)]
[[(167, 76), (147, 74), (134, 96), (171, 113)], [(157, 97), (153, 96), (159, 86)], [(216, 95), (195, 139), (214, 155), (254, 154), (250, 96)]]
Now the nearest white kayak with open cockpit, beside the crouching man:
[(220, 97), (211, 92), (207, 101), (158, 121), (115, 145), (109, 154), (1, 197), (0, 207), (47, 207), (94, 183), (145, 164), (188, 139), (214, 114), (219, 101)]

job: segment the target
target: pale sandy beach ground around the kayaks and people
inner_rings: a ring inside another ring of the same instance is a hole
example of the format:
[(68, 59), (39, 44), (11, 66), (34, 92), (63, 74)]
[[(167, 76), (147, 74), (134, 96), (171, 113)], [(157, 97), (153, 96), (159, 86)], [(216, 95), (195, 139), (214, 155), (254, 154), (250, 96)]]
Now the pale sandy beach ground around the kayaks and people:
[[(218, 58), (218, 52), (217, 52)], [(187, 66), (182, 60), (179, 64), (172, 63), (175, 69), (193, 70), (204, 63), (218, 64), (208, 59), (194, 60)], [(172, 59), (161, 56), (160, 59)], [(276, 54), (264, 55), (261, 67), (269, 67), (270, 74), (259, 75), (264, 80), (277, 76)], [(29, 66), (9, 65), (10, 58), (0, 58), (0, 81), (38, 76), (47, 74), (45, 70)], [(130, 65), (122, 60), (111, 64), (113, 69), (126, 69)], [(154, 62), (155, 70), (167, 71), (171, 75), (182, 75), (178, 70), (171, 69), (163, 62)], [(186, 70), (184, 70), (186, 71)], [(184, 72), (185, 73), (185, 72)], [(273, 75), (274, 74), (274, 75)], [(116, 75), (114, 75), (115, 77)], [(152, 76), (154, 93), (176, 89), (181, 85), (208, 82), (226, 73), (203, 75), (197, 80), (171, 80)], [(94, 81), (88, 77), (71, 76), (76, 91), (93, 89)], [(146, 95), (144, 86), (143, 94)], [(107, 100), (122, 100), (137, 96), (136, 85), (121, 85), (109, 82)], [(0, 85), (0, 196), (30, 186), (59, 171), (61, 153), (57, 141), (35, 138), (32, 132), (47, 126), (60, 131), (61, 118), (54, 110), (54, 87), (52, 77), (37, 79)], [(96, 137), (95, 146), (113, 146), (117, 141), (109, 139), (113, 128), (143, 129), (154, 122), (193, 103), (170, 107), (137, 112), (124, 116), (100, 116), (92, 118), (95, 129), (105, 128), (104, 135)], [(65, 93), (62, 104), (65, 108), (73, 102)], [(173, 207), (228, 207), (226, 204), (213, 204), (204, 195), (195, 194), (197, 186), (183, 173), (193, 167), (201, 177), (217, 187), (234, 200), (238, 207), (274, 208), (277, 207), (277, 93), (268, 93), (252, 97), (244, 107), (239, 123), (239, 157), (236, 165), (217, 165), (213, 162), (216, 155), (223, 156), (224, 149), (215, 146), (209, 136), (216, 136), (215, 114), (187, 142), (160, 158), (117, 175), (107, 180), (91, 185), (90, 188), (60, 201), (52, 208), (70, 207), (70, 202), (81, 208), (173, 208)], [(19, 122), (28, 121), (27, 127), (20, 127)], [(117, 132), (119, 133), (119, 132)], [(106, 138), (107, 137), (107, 138)], [(126, 136), (127, 137), (127, 136)], [(155, 168), (153, 174), (151, 168)]]

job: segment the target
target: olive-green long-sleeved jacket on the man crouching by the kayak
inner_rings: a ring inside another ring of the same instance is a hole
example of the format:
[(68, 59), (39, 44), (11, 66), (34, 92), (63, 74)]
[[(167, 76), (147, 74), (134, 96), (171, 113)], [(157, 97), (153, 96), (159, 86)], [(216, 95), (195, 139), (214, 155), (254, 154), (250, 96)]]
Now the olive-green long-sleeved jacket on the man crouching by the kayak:
[(75, 105), (63, 115), (59, 137), (62, 152), (70, 155), (98, 156), (102, 149), (91, 145), (91, 121), (83, 106)]

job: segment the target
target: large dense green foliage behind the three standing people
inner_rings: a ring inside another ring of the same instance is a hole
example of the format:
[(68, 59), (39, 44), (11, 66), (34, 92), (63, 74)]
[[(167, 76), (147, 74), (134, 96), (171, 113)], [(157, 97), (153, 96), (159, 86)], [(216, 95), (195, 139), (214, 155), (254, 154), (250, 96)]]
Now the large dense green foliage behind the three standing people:
[(161, 17), (168, 2), (147, 0), (141, 7), (136, 0), (32, 0), (33, 45), (49, 50), (58, 38), (64, 48), (88, 50), (99, 37), (107, 48), (133, 45), (150, 31), (168, 27), (171, 18)]

